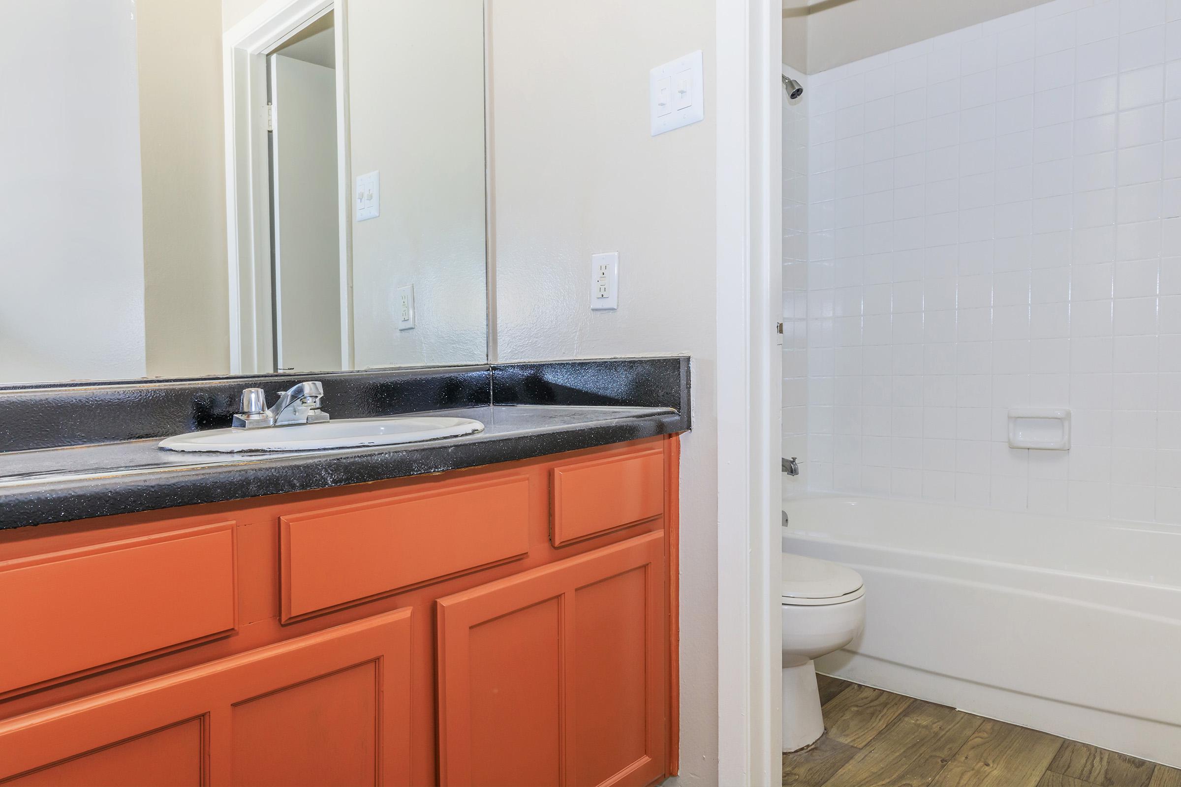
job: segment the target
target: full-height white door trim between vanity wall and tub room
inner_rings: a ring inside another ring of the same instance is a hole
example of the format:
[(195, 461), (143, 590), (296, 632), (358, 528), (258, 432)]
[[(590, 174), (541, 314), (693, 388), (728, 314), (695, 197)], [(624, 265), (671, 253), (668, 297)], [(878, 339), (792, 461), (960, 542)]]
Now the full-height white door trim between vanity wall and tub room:
[(718, 783), (781, 779), (778, 0), (718, 0)]

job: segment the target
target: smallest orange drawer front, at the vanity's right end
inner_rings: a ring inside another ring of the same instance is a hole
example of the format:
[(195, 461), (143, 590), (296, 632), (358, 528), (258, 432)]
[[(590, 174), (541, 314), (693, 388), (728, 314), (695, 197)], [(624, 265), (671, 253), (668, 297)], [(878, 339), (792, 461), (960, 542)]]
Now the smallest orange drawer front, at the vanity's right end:
[(559, 465), (550, 540), (561, 546), (664, 513), (664, 451)]

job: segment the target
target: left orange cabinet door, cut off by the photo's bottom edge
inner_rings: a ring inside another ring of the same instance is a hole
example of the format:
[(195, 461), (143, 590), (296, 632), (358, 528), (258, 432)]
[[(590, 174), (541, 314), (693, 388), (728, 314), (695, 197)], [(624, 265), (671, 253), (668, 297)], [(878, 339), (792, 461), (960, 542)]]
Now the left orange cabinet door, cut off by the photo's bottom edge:
[(0, 722), (0, 785), (405, 785), (410, 616)]

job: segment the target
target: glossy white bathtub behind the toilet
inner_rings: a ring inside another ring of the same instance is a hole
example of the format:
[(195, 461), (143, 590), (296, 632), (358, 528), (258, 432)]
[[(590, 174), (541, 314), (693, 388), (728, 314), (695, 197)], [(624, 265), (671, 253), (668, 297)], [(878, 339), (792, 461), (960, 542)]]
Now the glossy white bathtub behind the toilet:
[(1181, 766), (1181, 527), (784, 499), (783, 549), (856, 569), (829, 675)]

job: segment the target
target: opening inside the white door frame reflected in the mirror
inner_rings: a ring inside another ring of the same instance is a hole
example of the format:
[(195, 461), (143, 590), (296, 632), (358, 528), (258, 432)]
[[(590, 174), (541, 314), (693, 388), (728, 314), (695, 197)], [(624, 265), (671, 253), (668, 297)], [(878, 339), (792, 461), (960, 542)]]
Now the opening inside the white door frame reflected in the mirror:
[(267, 57), (274, 368), (342, 368), (332, 13)]

